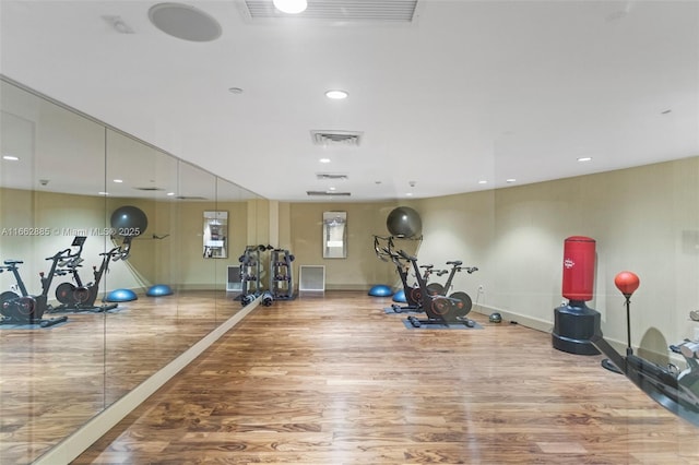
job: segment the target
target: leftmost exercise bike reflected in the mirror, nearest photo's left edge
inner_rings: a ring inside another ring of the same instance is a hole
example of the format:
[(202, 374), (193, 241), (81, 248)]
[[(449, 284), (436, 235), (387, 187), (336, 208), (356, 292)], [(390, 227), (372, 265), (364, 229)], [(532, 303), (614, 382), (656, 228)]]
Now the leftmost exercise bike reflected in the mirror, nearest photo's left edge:
[[(0, 266), (0, 272), (8, 271), (13, 274), (16, 282), (15, 290), (7, 290), (0, 294), (0, 313), (2, 320), (0, 324), (39, 324), (42, 327), (52, 326), (58, 323), (68, 321), (68, 317), (59, 317), (54, 319), (44, 319), (44, 313), (49, 312), (51, 307), (48, 305), (48, 291), (51, 287), (54, 276), (64, 274), (61, 267), (71, 263), (79, 251), (68, 248), (57, 252), (54, 257), (46, 260), (51, 261), (51, 267), (48, 274), (39, 273), (42, 281), (42, 294), (29, 295), (17, 265), (23, 264), (21, 260), (5, 260), (4, 266)], [(19, 294), (16, 293), (19, 291)]]

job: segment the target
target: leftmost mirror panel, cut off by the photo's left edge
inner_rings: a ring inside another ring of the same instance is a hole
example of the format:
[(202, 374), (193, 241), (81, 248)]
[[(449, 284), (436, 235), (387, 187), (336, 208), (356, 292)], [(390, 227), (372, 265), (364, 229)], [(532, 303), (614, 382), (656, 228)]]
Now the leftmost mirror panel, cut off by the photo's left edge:
[[(28, 463), (104, 408), (104, 315), (73, 314), (64, 302), (90, 289), (79, 261), (104, 250), (105, 129), (4, 81), (0, 96), (0, 262), (23, 262), (17, 273), (36, 302), (33, 318), (3, 314), (0, 324), (0, 418), (10, 432), (0, 462)], [(82, 247), (71, 247), (75, 236)], [(0, 293), (16, 284), (5, 267)]]

